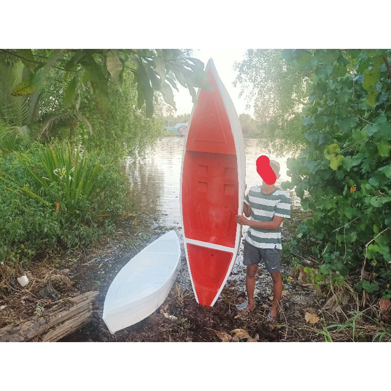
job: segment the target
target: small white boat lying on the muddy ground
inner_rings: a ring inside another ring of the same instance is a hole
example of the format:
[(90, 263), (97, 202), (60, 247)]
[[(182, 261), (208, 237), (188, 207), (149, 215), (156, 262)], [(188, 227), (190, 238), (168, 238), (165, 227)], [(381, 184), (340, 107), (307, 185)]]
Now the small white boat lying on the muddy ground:
[(133, 257), (109, 286), (102, 319), (111, 334), (151, 315), (168, 296), (180, 261), (179, 239), (170, 231)]

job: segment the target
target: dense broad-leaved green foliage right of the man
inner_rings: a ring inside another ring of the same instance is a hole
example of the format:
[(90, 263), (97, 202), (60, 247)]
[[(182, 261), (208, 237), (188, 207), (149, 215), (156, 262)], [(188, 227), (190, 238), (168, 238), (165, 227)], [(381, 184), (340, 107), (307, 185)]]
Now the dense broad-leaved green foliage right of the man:
[(337, 282), (358, 272), (357, 289), (390, 298), (391, 50), (289, 49), (283, 57), (313, 73), (305, 148), (288, 159), (292, 179), (282, 184), (312, 210), (299, 239), (314, 243), (321, 272), (334, 270)]

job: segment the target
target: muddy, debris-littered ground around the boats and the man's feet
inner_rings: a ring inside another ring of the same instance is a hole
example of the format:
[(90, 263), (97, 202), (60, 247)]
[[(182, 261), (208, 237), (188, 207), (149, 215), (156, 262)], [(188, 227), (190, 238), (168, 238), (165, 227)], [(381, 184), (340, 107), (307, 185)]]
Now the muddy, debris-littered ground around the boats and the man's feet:
[[(292, 214), (285, 224), (283, 241), (293, 237), (305, 213)], [(1, 265), (0, 328), (39, 319), (59, 300), (88, 291), (99, 291), (93, 306), (93, 320), (66, 336), (63, 342), (320, 342), (372, 341), (377, 333), (390, 340), (388, 320), (382, 318), (375, 300), (366, 297), (365, 306), (347, 283), (334, 289), (315, 289), (303, 266), (291, 258), (282, 259), (283, 295), (277, 322), (267, 321), (272, 304), (272, 282), (260, 267), (256, 277), (255, 310), (245, 314), (245, 267), (243, 243), (232, 273), (213, 307), (195, 301), (181, 242), (181, 267), (165, 302), (143, 321), (110, 334), (102, 320), (109, 285), (118, 271), (147, 244), (172, 228), (159, 226), (147, 216), (127, 217), (114, 235), (94, 246), (31, 263), (14, 274), (26, 274), (29, 284), (21, 288), (16, 278), (7, 277)], [(180, 229), (174, 228), (181, 239)], [(243, 239), (242, 239), (243, 240)], [(315, 267), (315, 266), (312, 266)], [(5, 277), (4, 277), (5, 276)], [(351, 312), (351, 311), (361, 311)], [(384, 314), (382, 314), (384, 315)], [(381, 320), (381, 322), (379, 322)], [(326, 326), (337, 326), (326, 329)], [(376, 338), (376, 337), (375, 337)], [(379, 336), (377, 337), (380, 338)]]

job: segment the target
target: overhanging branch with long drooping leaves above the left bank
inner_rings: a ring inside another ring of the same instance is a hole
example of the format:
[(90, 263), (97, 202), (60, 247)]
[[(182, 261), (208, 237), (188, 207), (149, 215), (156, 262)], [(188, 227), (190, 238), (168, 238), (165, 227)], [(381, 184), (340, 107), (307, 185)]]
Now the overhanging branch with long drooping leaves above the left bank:
[(189, 90), (193, 102), (195, 87), (212, 88), (204, 64), (185, 57), (179, 49), (0, 49), (0, 54), (20, 58), (29, 69), (27, 80), (13, 89), (13, 95), (33, 93), (50, 69), (58, 67), (69, 80), (64, 92), (65, 104), (70, 106), (89, 81), (103, 118), (109, 110), (109, 80), (121, 89), (125, 69), (133, 73), (138, 108), (145, 104), (149, 118), (153, 114), (153, 91), (160, 91), (164, 101), (175, 109), (172, 88), (177, 89), (176, 83)]

